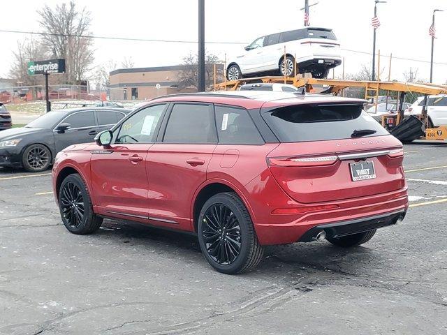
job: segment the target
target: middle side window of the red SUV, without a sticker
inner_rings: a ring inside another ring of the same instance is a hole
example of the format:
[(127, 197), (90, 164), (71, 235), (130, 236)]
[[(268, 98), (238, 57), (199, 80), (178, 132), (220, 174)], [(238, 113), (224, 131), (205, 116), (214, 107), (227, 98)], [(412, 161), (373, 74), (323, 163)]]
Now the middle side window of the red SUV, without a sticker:
[(190, 103), (174, 105), (163, 142), (216, 143), (216, 131), (210, 106)]

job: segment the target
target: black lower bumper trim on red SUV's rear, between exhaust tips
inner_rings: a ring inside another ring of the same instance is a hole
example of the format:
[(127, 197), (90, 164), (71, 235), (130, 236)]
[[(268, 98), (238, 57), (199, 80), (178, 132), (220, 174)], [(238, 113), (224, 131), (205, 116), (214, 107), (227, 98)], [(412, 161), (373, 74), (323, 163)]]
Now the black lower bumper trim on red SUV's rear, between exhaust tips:
[(316, 225), (314, 228), (307, 230), (298, 240), (299, 242), (315, 241), (316, 236), (324, 231), (328, 237), (344, 237), (346, 235), (358, 234), (360, 232), (368, 232), (395, 225), (397, 221), (402, 221), (405, 217), (406, 209), (395, 211), (393, 213), (371, 216), (369, 218), (358, 218), (356, 220), (341, 221), (337, 223), (327, 223), (325, 225)]

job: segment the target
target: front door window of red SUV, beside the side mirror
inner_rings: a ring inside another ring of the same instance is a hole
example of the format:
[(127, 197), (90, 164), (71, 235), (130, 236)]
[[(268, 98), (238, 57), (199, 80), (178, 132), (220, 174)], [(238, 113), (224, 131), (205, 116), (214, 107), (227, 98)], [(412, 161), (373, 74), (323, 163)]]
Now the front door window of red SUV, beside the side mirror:
[(140, 110), (126, 119), (119, 128), (117, 143), (150, 143), (155, 142), (156, 126), (161, 121), (161, 115), (166, 104), (154, 105)]

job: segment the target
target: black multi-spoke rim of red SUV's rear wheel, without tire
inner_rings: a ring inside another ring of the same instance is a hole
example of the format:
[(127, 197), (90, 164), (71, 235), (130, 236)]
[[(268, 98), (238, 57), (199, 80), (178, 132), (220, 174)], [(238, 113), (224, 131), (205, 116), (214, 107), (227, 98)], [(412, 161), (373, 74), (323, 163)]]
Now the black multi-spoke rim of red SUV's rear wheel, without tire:
[(221, 265), (229, 265), (240, 254), (241, 233), (237, 217), (225, 204), (213, 204), (205, 211), (202, 237), (208, 255)]

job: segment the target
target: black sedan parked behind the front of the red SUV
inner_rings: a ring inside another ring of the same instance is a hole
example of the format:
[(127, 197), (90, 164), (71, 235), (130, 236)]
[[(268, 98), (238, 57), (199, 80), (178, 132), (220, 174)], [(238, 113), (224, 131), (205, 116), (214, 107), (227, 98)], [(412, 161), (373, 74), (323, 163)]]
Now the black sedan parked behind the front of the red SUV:
[(47, 170), (54, 157), (71, 144), (94, 142), (97, 133), (112, 128), (130, 110), (85, 107), (54, 110), (23, 128), (0, 132), (0, 166)]

